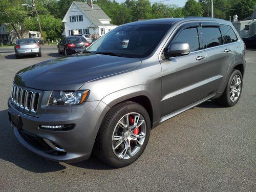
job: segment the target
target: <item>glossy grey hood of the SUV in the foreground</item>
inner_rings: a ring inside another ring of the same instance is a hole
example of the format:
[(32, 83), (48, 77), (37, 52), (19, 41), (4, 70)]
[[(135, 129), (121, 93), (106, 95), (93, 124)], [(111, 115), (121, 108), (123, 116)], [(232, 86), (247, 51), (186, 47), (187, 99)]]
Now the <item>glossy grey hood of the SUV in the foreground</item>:
[(78, 90), (86, 82), (131, 70), (140, 63), (138, 58), (77, 54), (20, 70), (14, 82), (38, 90)]

